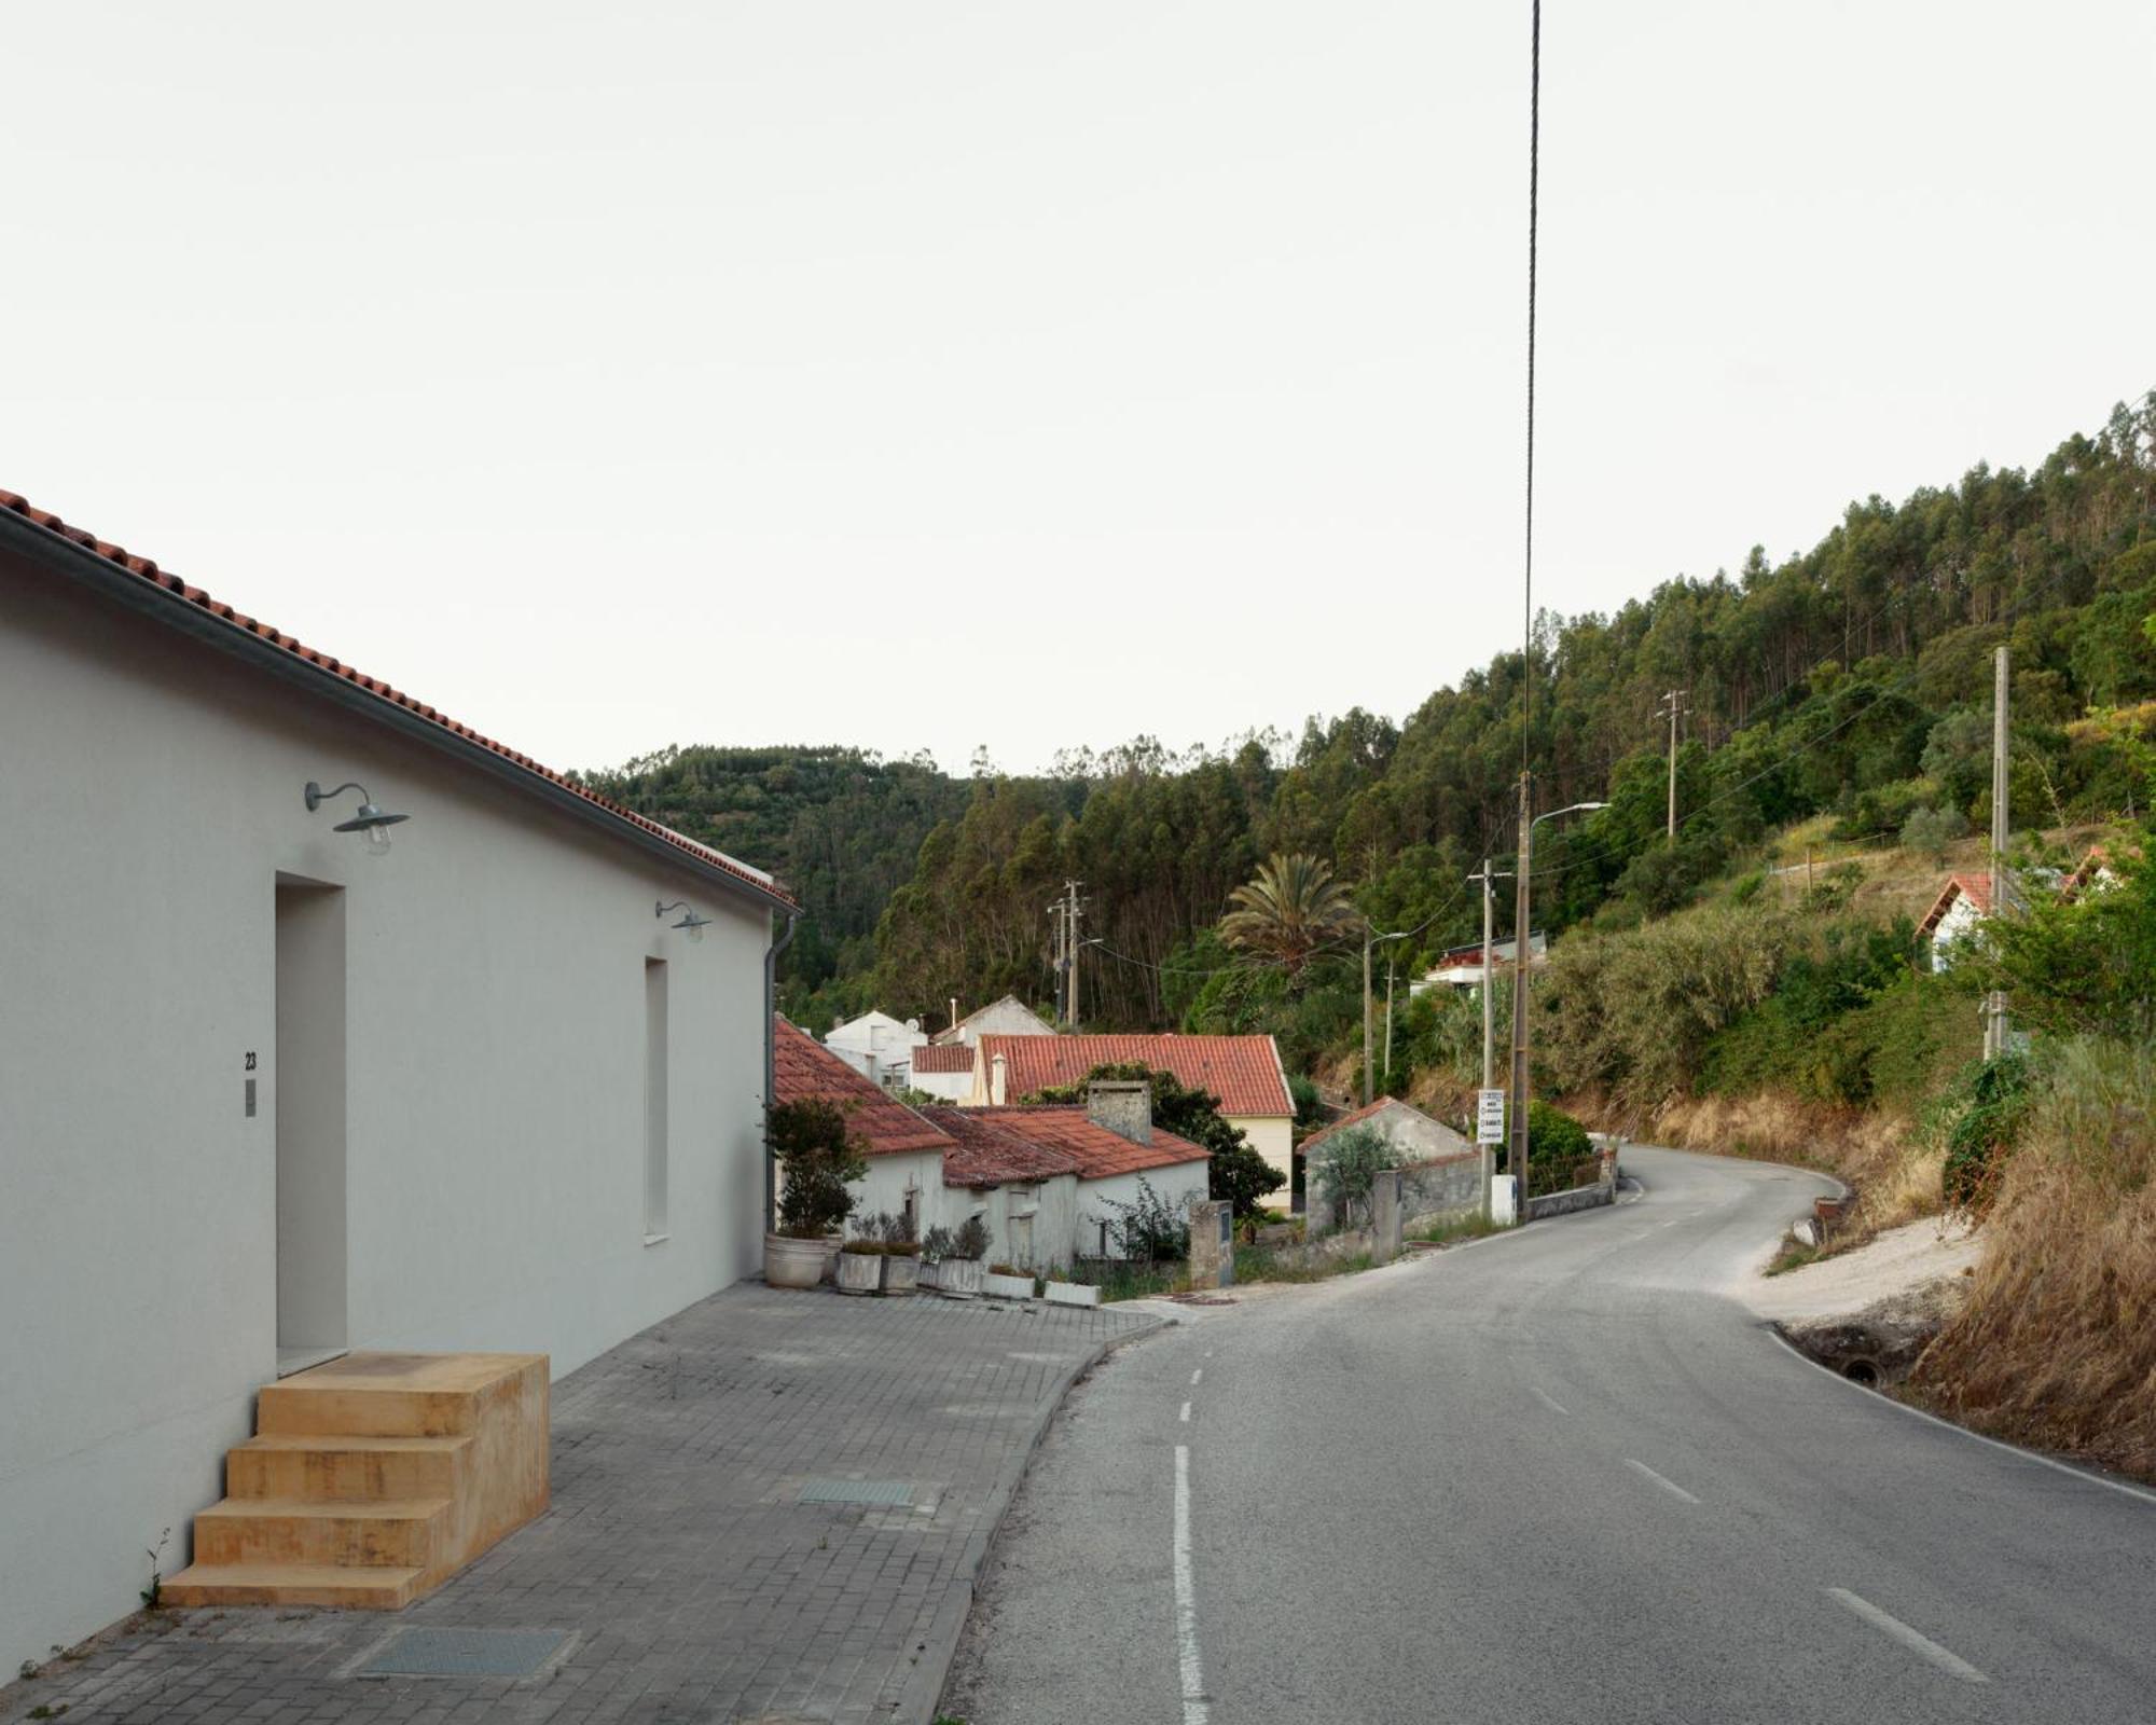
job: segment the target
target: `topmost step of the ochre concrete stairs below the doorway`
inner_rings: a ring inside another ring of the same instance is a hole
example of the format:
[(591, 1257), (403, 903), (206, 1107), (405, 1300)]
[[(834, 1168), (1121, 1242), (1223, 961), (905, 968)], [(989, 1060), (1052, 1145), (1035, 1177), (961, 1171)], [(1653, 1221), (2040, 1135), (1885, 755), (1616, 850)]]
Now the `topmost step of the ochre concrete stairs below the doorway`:
[(537, 1382), (545, 1354), (345, 1354), (254, 1397), (263, 1436), (442, 1438), (476, 1432), (487, 1408)]

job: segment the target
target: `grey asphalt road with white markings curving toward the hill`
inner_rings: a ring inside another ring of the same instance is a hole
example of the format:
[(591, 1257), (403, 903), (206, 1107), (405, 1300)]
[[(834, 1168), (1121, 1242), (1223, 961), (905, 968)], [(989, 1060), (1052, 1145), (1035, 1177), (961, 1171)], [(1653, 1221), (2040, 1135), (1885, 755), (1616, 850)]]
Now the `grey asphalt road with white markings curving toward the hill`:
[(1005, 1522), (944, 1710), (2156, 1721), (2156, 1496), (1917, 1419), (1736, 1305), (1811, 1177), (1626, 1169), (1639, 1203), (1112, 1358)]

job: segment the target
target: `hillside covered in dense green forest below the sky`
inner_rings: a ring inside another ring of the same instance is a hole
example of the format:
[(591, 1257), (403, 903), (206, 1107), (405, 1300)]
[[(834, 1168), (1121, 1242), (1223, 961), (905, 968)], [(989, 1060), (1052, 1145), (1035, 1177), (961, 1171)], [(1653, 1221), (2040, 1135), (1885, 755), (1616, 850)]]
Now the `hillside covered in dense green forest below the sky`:
[[(802, 891), (813, 932), (787, 998), (808, 1022), (871, 1003), (931, 1013), (953, 994), (1048, 998), (1046, 906), (1076, 878), (1102, 942), (1087, 953), (1089, 1022), (1263, 1026), (1311, 1059), (1354, 1024), (1358, 955), (1289, 985), (1233, 966), (1212, 934), (1270, 852), (1328, 858), (1378, 927), (1416, 929), (1399, 942), (1408, 964), (1475, 938), (1466, 873), (1511, 850), (1522, 722), (1539, 806), (1613, 804), (1544, 828), (1550, 929), (1686, 903), (1811, 815), (1843, 839), (1945, 841), (1988, 819), (1999, 643), (2014, 649), (2016, 824), (2145, 809), (2152, 612), (2156, 395), (2033, 470), (1979, 466), (1852, 505), (1785, 563), (1755, 550), (1736, 574), (1669, 580), (1615, 615), (1544, 617), (1531, 716), (1509, 653), (1406, 722), (1311, 718), (1294, 744), (1177, 757), (1141, 740), (1044, 778), (972, 781), (854, 750), (668, 750), (593, 783)], [(1656, 716), (1671, 688), (1690, 705), (1675, 847)]]

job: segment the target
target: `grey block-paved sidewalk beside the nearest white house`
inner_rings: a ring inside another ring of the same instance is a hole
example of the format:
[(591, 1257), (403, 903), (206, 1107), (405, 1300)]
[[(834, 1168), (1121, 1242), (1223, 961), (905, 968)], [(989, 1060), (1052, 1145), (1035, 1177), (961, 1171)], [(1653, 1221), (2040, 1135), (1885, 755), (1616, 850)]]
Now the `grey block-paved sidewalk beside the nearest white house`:
[[(69, 1725), (929, 1719), (1069, 1380), (1160, 1320), (731, 1287), (554, 1384), (554, 1503), (403, 1613), (160, 1611), (0, 1688)], [(811, 1477), (914, 1507), (798, 1503)], [(395, 1630), (567, 1630), (545, 1675), (358, 1678)]]

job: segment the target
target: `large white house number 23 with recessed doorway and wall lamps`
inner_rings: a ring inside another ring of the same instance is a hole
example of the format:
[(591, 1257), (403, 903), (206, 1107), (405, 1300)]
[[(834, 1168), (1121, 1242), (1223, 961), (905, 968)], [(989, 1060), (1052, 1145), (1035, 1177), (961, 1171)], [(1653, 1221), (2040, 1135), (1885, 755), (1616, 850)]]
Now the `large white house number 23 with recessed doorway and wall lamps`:
[(0, 1669), (188, 1563), (280, 1369), (752, 1272), (791, 910), (0, 494)]

